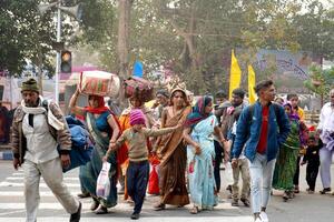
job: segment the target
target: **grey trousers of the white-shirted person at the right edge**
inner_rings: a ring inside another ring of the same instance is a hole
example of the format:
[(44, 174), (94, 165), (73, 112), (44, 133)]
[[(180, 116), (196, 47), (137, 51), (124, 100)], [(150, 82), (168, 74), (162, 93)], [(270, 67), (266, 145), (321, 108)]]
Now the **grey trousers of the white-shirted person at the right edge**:
[(334, 149), (330, 151), (327, 148), (322, 148), (320, 150), (321, 159), (321, 178), (324, 188), (331, 188), (331, 164), (334, 154)]

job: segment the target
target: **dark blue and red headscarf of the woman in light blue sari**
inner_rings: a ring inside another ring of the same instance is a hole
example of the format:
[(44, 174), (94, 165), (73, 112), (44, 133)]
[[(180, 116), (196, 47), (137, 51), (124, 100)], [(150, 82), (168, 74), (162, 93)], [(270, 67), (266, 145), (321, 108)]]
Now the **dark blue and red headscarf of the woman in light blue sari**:
[(186, 127), (194, 128), (198, 122), (208, 118), (213, 113), (205, 113), (205, 108), (213, 101), (212, 97), (204, 95), (200, 97), (195, 107), (193, 108), (193, 112), (187, 117)]

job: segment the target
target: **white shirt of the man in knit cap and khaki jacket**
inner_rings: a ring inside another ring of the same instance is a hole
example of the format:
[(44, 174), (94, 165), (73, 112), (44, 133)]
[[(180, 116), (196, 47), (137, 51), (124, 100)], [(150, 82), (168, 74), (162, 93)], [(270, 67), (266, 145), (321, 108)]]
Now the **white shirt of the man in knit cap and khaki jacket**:
[(33, 163), (43, 163), (59, 157), (57, 142), (51, 135), (45, 113), (33, 115), (33, 128), (29, 124), (26, 114), (22, 122), (22, 131), (27, 138), (26, 160)]

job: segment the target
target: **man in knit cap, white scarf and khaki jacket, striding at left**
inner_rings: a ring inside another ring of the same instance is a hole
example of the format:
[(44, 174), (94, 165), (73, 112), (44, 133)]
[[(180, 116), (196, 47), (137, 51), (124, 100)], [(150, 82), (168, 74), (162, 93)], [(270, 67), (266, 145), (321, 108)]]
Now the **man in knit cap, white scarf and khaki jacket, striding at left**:
[[(80, 221), (81, 203), (63, 183), (62, 167), (70, 165), (70, 133), (59, 107), (49, 102), (46, 109), (35, 79), (22, 83), (23, 100), (12, 123), (13, 167), (23, 168), (27, 222), (35, 222), (39, 205), (39, 182), (43, 178), (65, 210), (70, 222)], [(59, 152), (57, 150), (59, 147)]]

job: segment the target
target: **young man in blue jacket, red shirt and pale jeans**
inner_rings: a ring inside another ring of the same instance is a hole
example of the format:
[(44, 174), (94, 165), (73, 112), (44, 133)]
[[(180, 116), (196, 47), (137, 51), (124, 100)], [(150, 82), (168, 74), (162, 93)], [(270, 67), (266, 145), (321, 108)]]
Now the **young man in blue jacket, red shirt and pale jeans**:
[(265, 213), (269, 202), (273, 172), (279, 145), (285, 142), (289, 121), (283, 107), (272, 103), (275, 87), (272, 80), (261, 81), (255, 91), (258, 100), (245, 108), (238, 120), (236, 140), (232, 150), (232, 164), (237, 167), (243, 151), (248, 159), (252, 208), (255, 222), (267, 222)]

